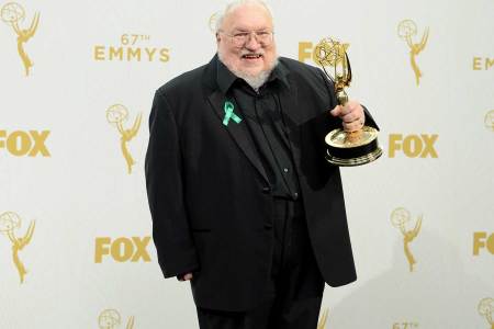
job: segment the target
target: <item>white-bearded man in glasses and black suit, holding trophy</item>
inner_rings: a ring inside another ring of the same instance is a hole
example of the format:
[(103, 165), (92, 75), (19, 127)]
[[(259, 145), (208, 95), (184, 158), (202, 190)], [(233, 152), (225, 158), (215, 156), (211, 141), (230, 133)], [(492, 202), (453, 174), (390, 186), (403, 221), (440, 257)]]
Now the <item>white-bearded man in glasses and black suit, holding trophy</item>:
[[(324, 282), (356, 280), (325, 135), (375, 126), (322, 70), (278, 58), (261, 1), (229, 4), (217, 55), (156, 92), (146, 182), (165, 277), (190, 281), (201, 328), (316, 328)], [(330, 112), (329, 112), (330, 110)]]

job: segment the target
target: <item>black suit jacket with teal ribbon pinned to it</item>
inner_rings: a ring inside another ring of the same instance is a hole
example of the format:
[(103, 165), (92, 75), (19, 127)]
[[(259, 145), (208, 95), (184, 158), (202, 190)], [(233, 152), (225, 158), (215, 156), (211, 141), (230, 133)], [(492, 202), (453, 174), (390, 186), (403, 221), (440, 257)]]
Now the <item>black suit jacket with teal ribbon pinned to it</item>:
[[(288, 58), (279, 66), (288, 72), (281, 107), (315, 258), (329, 285), (344, 285), (357, 276), (339, 169), (325, 160), (324, 137), (341, 126), (328, 113), (334, 87), (315, 67)], [(245, 121), (222, 123), (233, 100), (216, 81), (217, 56), (156, 92), (146, 155), (153, 238), (166, 277), (195, 271), (198, 306), (245, 310), (268, 283), (272, 196)]]

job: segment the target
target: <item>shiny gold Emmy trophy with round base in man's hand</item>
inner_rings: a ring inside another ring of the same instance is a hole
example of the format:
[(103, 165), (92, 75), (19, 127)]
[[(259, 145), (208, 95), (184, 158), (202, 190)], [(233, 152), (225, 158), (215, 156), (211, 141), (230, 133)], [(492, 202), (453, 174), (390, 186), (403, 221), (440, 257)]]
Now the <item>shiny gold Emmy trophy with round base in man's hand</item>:
[[(338, 104), (345, 106), (348, 95), (345, 88), (351, 82), (351, 67), (347, 55), (348, 44), (333, 38), (322, 39), (315, 47), (314, 55), (323, 67), (324, 72), (335, 84)], [(332, 77), (326, 68), (334, 68)], [(361, 166), (377, 160), (382, 155), (378, 145), (378, 129), (363, 126), (356, 132), (334, 129), (326, 135), (326, 160), (341, 167)]]

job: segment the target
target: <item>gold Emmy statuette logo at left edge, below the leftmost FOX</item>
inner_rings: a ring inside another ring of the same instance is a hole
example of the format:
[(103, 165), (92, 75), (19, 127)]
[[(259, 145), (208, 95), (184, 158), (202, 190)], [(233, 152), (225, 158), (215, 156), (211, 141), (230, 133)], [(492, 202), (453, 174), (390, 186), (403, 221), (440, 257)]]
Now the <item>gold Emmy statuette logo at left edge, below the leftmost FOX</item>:
[(27, 274), (27, 270), (19, 258), (19, 251), (24, 249), (31, 242), (33, 238), (35, 222), (31, 222), (23, 237), (16, 237), (14, 229), (21, 227), (21, 217), (12, 212), (7, 212), (0, 215), (0, 232), (4, 234), (12, 243), (12, 259), (13, 264), (18, 269), (21, 284), (24, 282), (24, 276)]

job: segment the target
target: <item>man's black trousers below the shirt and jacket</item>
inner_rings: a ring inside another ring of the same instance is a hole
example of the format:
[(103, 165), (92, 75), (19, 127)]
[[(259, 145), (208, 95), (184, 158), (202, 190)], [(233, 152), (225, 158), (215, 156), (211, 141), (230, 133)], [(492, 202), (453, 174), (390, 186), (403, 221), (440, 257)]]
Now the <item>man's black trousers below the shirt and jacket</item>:
[(316, 329), (324, 280), (301, 201), (274, 198), (274, 250), (266, 302), (248, 311), (198, 307), (201, 329)]

